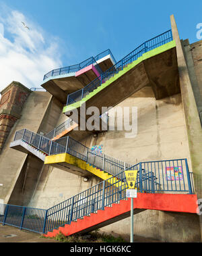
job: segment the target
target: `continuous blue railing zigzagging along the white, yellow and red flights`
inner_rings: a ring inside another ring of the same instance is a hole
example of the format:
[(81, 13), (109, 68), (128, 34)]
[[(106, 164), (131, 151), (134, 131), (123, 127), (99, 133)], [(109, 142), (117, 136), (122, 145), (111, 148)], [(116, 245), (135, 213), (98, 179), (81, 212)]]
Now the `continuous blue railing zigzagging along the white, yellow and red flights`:
[[(53, 149), (54, 147), (59, 149), (57, 153), (66, 152), (73, 155), (83, 153), (87, 163), (98, 168), (101, 164), (106, 172), (108, 172), (109, 166), (103, 160), (111, 160), (116, 164), (123, 163), (102, 153), (92, 153), (88, 147), (71, 137), (61, 138), (53, 142), (44, 136), (24, 129), (15, 133), (14, 140), (25, 140), (38, 149), (41, 149), (44, 144), (49, 145), (48, 151), (46, 151), (49, 155), (55, 153), (51, 152), (51, 147), (54, 144)], [(93, 161), (89, 153), (93, 155)], [(102, 161), (94, 161), (98, 157), (101, 157)], [(79, 158), (81, 159), (81, 157)], [(100, 169), (102, 170), (102, 168)], [(46, 210), (0, 204), (0, 209), (3, 209), (4, 213), (0, 215), (0, 222), (3, 225), (17, 226), (20, 229), (38, 233), (46, 233), (59, 228), (59, 226), (71, 224), (81, 217), (96, 213), (100, 209), (104, 210), (104, 207), (110, 207), (113, 203), (125, 200), (127, 198), (126, 189), (128, 188), (125, 170), (137, 170), (135, 187), (139, 193), (195, 193), (193, 173), (189, 172), (187, 159), (145, 161), (135, 165), (123, 163), (118, 170), (119, 172), (107, 180), (103, 180)]]

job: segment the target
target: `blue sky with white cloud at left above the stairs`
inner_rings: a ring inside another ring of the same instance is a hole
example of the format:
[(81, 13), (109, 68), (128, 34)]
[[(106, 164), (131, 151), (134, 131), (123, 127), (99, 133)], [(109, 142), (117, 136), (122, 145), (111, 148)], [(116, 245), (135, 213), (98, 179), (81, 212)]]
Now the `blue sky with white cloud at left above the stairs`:
[(0, 91), (13, 80), (40, 87), (50, 70), (106, 49), (119, 61), (169, 30), (172, 14), (180, 39), (194, 43), (201, 11), (201, 0), (0, 0)]

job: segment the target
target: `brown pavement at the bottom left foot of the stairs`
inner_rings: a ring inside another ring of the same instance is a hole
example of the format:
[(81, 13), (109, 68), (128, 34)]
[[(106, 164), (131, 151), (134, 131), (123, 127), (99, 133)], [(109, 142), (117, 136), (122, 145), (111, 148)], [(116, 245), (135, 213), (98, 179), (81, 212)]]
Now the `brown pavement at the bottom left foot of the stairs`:
[(41, 236), (41, 234), (0, 224), (0, 242), (59, 242)]

